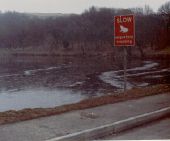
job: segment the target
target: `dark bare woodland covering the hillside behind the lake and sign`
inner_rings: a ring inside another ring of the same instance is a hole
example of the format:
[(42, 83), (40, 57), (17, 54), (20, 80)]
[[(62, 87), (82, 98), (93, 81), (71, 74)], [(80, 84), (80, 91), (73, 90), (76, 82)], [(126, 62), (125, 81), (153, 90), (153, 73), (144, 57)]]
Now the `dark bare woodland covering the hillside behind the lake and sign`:
[(114, 16), (124, 14), (135, 15), (136, 46), (162, 49), (169, 45), (170, 2), (162, 5), (157, 13), (149, 6), (133, 9), (91, 7), (80, 15), (48, 18), (17, 12), (0, 13), (0, 48), (42, 47), (53, 51), (110, 47), (113, 46)]

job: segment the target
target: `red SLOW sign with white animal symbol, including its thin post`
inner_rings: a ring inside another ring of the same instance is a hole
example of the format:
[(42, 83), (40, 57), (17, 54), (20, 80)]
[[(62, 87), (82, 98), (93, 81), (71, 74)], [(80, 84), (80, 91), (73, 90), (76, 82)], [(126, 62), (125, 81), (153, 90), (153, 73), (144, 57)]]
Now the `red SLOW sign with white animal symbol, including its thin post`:
[(124, 52), (124, 93), (127, 88), (127, 46), (135, 46), (135, 20), (134, 15), (114, 17), (114, 46), (123, 47)]

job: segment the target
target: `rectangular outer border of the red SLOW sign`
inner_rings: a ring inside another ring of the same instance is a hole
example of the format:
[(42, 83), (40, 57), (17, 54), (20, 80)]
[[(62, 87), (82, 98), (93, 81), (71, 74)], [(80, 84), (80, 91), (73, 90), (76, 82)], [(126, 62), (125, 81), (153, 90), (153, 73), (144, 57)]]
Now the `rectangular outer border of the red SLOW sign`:
[[(121, 17), (121, 16), (133, 16), (133, 30), (134, 30), (134, 43), (133, 43), (133, 45), (115, 45), (115, 19), (116, 19), (116, 17)], [(128, 14), (128, 15), (117, 15), (117, 16), (114, 16), (114, 46), (115, 47), (124, 47), (124, 46), (127, 46), (127, 47), (131, 47), (131, 46), (135, 46), (136, 45), (136, 32), (135, 32), (135, 30), (136, 30), (136, 28), (135, 28), (135, 15), (134, 14)]]

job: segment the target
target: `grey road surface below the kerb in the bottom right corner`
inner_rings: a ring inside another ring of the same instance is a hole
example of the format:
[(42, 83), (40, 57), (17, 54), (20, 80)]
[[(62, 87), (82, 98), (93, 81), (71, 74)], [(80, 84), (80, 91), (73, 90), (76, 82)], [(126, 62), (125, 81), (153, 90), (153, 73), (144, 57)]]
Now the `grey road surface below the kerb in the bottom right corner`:
[(101, 140), (170, 139), (170, 117)]

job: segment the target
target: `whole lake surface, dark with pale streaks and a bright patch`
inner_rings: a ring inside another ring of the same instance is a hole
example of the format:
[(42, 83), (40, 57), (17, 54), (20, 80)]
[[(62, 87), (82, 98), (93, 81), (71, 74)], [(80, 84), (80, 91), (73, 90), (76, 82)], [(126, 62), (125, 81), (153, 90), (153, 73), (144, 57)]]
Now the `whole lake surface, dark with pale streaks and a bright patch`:
[[(13, 56), (0, 61), (0, 111), (55, 107), (122, 89), (114, 57)], [(128, 62), (128, 86), (170, 83), (168, 61)]]

